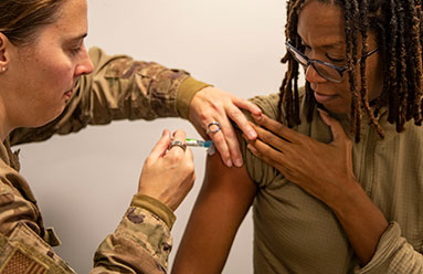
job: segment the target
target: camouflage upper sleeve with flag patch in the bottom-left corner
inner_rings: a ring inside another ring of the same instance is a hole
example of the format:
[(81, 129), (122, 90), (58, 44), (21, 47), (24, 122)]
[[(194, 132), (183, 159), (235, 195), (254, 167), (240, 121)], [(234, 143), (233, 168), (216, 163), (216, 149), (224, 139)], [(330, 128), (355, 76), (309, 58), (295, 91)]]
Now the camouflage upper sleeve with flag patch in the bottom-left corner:
[(0, 273), (75, 273), (52, 249), (59, 244), (27, 181), (0, 161)]

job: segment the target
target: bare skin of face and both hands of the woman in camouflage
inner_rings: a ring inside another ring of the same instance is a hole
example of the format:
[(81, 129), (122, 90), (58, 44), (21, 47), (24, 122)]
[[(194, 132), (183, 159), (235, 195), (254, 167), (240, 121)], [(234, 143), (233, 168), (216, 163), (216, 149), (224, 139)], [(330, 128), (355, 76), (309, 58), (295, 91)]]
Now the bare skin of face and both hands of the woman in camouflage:
[[(6, 67), (0, 73), (2, 139), (14, 128), (39, 127), (56, 118), (71, 98), (77, 78), (93, 71), (84, 44), (86, 13), (86, 0), (66, 1), (57, 21), (39, 29), (38, 39), (25, 46), (13, 45), (0, 32), (0, 67)], [(204, 138), (214, 141), (229, 167), (243, 165), (230, 118), (250, 139), (257, 136), (239, 107), (261, 114), (252, 103), (215, 87), (198, 92), (190, 104), (190, 120)], [(221, 123), (222, 130), (207, 136), (207, 125), (213, 120)], [(184, 141), (184, 133), (179, 130), (173, 138)], [(169, 144), (170, 133), (166, 130), (145, 162), (138, 191), (175, 210), (192, 188), (195, 175), (191, 151), (178, 151), (181, 149), (177, 147), (168, 150)]]

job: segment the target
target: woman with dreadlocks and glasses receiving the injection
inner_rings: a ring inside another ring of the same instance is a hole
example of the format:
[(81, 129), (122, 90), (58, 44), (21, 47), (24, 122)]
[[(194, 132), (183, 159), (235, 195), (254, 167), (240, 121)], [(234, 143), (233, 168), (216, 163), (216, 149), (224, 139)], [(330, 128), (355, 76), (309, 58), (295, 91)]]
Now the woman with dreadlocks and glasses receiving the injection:
[(423, 273), (422, 7), (287, 2), (281, 94), (244, 168), (209, 158), (173, 273), (221, 273), (251, 205), (255, 273)]

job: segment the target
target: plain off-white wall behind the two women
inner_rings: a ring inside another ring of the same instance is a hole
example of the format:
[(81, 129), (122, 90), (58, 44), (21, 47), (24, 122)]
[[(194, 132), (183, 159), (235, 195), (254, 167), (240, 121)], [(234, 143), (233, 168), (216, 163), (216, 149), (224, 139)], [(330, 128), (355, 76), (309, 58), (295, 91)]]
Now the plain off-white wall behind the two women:
[[(240, 97), (275, 93), (284, 76), (285, 2), (282, 0), (88, 0), (87, 46), (183, 68)], [(162, 129), (183, 129), (180, 118), (114, 122), (49, 141), (20, 146), (22, 173), (38, 198), (55, 250), (78, 273), (113, 232), (136, 193), (144, 160)], [(195, 186), (176, 211), (172, 264), (202, 183), (205, 150), (193, 148)], [(223, 212), (222, 212), (223, 213)], [(219, 232), (216, 232), (219, 233)], [(253, 273), (253, 226), (245, 218), (223, 273)]]

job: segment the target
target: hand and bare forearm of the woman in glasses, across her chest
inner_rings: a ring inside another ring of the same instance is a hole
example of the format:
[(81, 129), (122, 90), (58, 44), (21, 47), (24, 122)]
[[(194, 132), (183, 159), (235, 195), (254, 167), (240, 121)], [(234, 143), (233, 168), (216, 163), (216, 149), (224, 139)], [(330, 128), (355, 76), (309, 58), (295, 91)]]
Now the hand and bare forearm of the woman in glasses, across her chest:
[(248, 148), (331, 208), (361, 265), (366, 265), (388, 221), (355, 178), (351, 139), (337, 120), (322, 112), (320, 117), (332, 133), (330, 144), (317, 141), (262, 115), (256, 120), (269, 131), (255, 126), (258, 139), (251, 141)]

